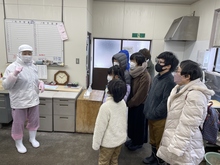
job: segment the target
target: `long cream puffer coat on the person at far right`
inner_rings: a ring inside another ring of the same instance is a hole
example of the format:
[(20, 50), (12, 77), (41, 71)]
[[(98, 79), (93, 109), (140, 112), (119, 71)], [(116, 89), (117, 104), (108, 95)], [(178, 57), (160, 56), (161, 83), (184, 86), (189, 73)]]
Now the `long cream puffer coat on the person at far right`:
[(214, 91), (199, 80), (178, 93), (176, 85), (168, 98), (168, 115), (157, 156), (171, 165), (198, 165), (204, 157), (202, 126)]

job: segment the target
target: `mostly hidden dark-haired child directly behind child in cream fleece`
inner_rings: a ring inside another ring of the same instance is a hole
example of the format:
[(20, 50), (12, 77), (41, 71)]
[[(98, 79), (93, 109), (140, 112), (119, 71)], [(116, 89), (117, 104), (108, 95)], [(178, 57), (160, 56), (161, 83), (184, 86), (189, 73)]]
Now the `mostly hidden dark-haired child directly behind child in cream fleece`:
[[(108, 83), (113, 79), (120, 79), (125, 82), (124, 72), (118, 65), (112, 66), (108, 69), (108, 76), (107, 76)], [(125, 102), (127, 102), (127, 99), (128, 99), (128, 96), (129, 96), (130, 90), (131, 90), (131, 87), (129, 84), (126, 84), (126, 87), (127, 87), (127, 91), (124, 96)], [(103, 102), (106, 101), (106, 98), (108, 95), (107, 92), (108, 92), (108, 85), (106, 86), (106, 91), (105, 91), (105, 96), (104, 96)]]

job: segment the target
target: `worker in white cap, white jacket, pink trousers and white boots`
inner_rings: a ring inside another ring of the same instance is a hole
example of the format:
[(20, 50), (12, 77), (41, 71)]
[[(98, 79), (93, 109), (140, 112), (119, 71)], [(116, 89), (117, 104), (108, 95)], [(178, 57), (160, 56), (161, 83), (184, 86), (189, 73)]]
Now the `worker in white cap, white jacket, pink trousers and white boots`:
[(26, 121), (30, 143), (35, 148), (40, 146), (36, 133), (39, 128), (39, 91), (44, 91), (44, 83), (38, 78), (32, 53), (31, 46), (21, 45), (17, 59), (6, 68), (2, 82), (4, 89), (9, 91), (13, 117), (11, 136), (19, 153), (27, 152), (22, 142)]

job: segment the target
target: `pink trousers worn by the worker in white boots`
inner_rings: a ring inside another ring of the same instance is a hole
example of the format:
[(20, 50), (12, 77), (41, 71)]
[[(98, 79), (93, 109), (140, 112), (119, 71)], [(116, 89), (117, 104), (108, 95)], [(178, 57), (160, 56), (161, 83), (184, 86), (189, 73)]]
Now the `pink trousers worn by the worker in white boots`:
[(24, 125), (29, 131), (36, 131), (39, 128), (39, 105), (26, 109), (12, 109), (11, 136), (14, 140), (23, 138)]

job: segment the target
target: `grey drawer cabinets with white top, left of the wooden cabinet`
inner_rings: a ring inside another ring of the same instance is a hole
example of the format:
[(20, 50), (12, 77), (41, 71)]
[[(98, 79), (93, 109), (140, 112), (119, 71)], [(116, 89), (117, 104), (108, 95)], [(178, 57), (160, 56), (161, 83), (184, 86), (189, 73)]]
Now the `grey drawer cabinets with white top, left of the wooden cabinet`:
[(40, 93), (40, 131), (75, 132), (76, 99), (80, 92)]

